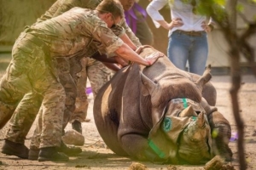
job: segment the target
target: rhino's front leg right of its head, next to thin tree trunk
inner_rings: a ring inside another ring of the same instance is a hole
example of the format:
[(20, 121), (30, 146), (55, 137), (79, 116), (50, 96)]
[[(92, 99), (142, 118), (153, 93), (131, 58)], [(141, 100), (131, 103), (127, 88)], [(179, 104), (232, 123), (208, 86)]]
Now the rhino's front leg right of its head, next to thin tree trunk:
[(225, 161), (231, 161), (233, 153), (229, 147), (231, 137), (230, 123), (218, 111), (213, 111), (207, 117), (212, 130), (213, 154), (224, 157)]

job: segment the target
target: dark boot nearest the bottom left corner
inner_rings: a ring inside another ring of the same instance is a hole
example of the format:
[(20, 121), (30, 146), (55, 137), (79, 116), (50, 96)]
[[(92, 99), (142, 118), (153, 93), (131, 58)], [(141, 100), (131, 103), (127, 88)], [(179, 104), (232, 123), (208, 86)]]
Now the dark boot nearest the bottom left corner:
[(9, 156), (18, 156), (23, 159), (27, 159), (28, 157), (28, 148), (25, 144), (18, 144), (7, 139), (4, 140), (1, 152)]

